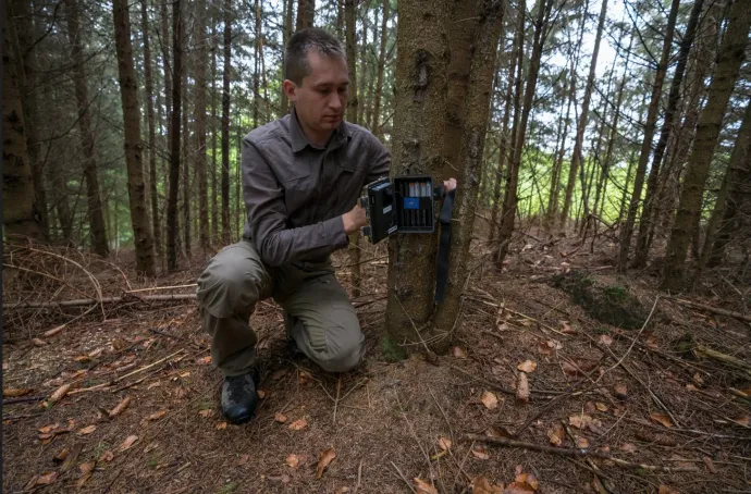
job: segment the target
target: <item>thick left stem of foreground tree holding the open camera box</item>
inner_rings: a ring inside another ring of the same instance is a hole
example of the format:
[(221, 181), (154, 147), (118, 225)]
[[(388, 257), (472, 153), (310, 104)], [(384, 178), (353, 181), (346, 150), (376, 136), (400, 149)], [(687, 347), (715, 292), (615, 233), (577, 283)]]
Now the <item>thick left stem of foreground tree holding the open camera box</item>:
[[(399, 2), (392, 174), (433, 174), (443, 168), (451, 1)], [(395, 343), (420, 341), (435, 288), (434, 235), (395, 235), (389, 242), (386, 329)], [(429, 332), (426, 332), (429, 336)]]

